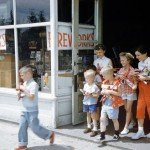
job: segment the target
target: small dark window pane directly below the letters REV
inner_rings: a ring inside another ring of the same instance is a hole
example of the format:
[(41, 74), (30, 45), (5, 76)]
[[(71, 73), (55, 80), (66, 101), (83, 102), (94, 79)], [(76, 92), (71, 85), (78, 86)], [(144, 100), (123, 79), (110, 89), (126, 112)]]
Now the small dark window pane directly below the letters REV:
[(72, 70), (72, 51), (71, 50), (59, 50), (59, 67), (60, 71)]

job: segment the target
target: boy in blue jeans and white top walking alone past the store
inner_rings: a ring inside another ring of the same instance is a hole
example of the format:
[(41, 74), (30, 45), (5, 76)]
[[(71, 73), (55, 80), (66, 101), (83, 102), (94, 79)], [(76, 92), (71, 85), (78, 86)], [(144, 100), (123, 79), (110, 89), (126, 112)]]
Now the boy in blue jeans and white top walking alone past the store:
[(23, 111), (20, 117), (18, 132), (19, 146), (15, 150), (25, 150), (28, 145), (28, 127), (40, 138), (49, 139), (50, 144), (54, 143), (55, 133), (39, 125), (38, 119), (38, 84), (33, 79), (33, 72), (30, 66), (24, 66), (19, 70), (23, 85), (17, 90), (18, 97), (22, 101)]

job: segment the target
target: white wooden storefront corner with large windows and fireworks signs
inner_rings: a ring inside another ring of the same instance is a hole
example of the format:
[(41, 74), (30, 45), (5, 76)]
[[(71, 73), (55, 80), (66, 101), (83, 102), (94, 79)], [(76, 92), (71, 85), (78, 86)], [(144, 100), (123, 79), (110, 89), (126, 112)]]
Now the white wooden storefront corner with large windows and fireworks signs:
[[(93, 61), (94, 41), (98, 40), (95, 34), (97, 28), (94, 26), (94, 2), (96, 1), (79, 1), (80, 10), (84, 3), (92, 4), (93, 8), (87, 13), (87, 19), (79, 16), (79, 23), (85, 25), (78, 25), (77, 43), (73, 41), (75, 35), (71, 23), (71, 7), (76, 4), (74, 0), (45, 0), (45, 3), (35, 0), (0, 2), (1, 118), (19, 121), (19, 111), (22, 108), (15, 92), (15, 87), (20, 82), (18, 69), (31, 65), (34, 79), (40, 87), (41, 123), (54, 128), (72, 123), (74, 62), (81, 64), (78, 65), (78, 73), (81, 73), (89, 56)], [(9, 12), (6, 12), (8, 9)], [(73, 58), (74, 47), (79, 52), (77, 60)], [(81, 111), (81, 99), (79, 107)], [(4, 115), (6, 111), (8, 113)]]

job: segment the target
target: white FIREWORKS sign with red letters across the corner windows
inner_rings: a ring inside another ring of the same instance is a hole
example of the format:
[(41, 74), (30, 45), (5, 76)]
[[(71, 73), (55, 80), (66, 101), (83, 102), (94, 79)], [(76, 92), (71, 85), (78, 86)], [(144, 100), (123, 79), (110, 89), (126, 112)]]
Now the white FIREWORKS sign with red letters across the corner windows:
[[(51, 32), (50, 27), (46, 27), (47, 49), (51, 49)], [(79, 49), (93, 49), (94, 47), (94, 29), (79, 28), (78, 35)], [(58, 26), (58, 49), (72, 49), (72, 28), (71, 26)]]

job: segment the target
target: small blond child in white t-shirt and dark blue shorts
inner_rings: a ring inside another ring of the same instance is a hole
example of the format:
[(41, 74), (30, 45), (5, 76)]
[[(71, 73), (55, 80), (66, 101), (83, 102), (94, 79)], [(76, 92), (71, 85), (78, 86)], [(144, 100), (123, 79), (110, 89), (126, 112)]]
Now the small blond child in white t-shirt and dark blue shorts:
[[(99, 96), (99, 88), (95, 84), (95, 71), (89, 69), (84, 72), (85, 84), (83, 87), (83, 112), (87, 113), (87, 128), (84, 133), (89, 133), (91, 137), (97, 135), (97, 115), (96, 115), (96, 104)], [(93, 129), (91, 123), (93, 122)]]

